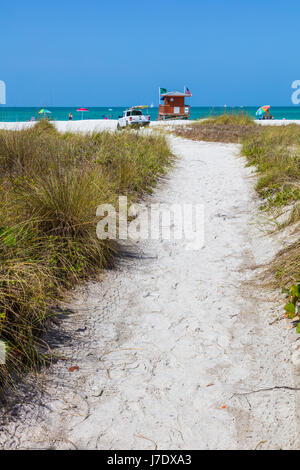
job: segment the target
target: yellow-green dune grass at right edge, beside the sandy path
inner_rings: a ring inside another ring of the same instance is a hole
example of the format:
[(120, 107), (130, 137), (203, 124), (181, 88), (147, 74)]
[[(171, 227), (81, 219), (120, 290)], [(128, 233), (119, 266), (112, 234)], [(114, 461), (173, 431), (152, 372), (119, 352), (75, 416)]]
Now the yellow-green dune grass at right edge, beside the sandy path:
[[(296, 241), (281, 250), (270, 266), (277, 287), (300, 283), (300, 126), (267, 127), (247, 137), (242, 153), (258, 171), (256, 190), (262, 209), (286, 213), (278, 229), (290, 226)], [(294, 238), (294, 237), (293, 237)]]

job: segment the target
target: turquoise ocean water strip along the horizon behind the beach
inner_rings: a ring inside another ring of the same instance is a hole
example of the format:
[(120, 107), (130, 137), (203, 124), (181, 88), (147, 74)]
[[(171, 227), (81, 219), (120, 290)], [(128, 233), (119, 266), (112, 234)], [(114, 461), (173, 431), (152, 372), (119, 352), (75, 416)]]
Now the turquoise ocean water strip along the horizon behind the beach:
[[(255, 112), (259, 106), (255, 107), (201, 107), (201, 106), (191, 106), (191, 119), (200, 119), (208, 116), (215, 116), (224, 113), (224, 111), (230, 113), (239, 113), (247, 112), (251, 116), (255, 116)], [(56, 121), (67, 121), (69, 113), (73, 114), (73, 120), (80, 119), (118, 119), (122, 115), (124, 109), (118, 107), (91, 107), (88, 108), (88, 112), (77, 112), (77, 108), (72, 107), (49, 107), (47, 108), (51, 111), (51, 114), (48, 115), (51, 120)], [(29, 121), (32, 117), (39, 119), (40, 115), (38, 114), (40, 108), (16, 108), (16, 107), (7, 107), (0, 106), (0, 121), (6, 122), (24, 122)], [(300, 119), (300, 106), (272, 106), (271, 114), (274, 116), (274, 119)], [(158, 108), (148, 108), (148, 111), (145, 110), (145, 113), (149, 113), (151, 120), (154, 121), (157, 117)]]

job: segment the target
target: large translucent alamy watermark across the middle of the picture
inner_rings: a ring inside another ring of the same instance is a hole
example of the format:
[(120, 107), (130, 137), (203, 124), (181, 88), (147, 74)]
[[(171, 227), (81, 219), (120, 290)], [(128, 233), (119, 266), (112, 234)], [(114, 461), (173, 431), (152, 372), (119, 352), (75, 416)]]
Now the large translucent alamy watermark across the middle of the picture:
[(203, 204), (132, 204), (119, 197), (119, 207), (101, 204), (97, 208), (97, 237), (100, 240), (182, 240), (186, 250), (204, 245)]

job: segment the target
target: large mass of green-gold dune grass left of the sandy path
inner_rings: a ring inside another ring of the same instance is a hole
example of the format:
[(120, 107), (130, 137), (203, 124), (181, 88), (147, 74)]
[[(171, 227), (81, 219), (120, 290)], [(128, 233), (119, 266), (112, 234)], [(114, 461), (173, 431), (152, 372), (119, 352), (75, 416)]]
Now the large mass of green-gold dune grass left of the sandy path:
[(46, 359), (42, 333), (66, 289), (113, 265), (97, 206), (151, 192), (171, 161), (162, 136), (59, 134), (47, 121), (0, 131), (0, 382)]

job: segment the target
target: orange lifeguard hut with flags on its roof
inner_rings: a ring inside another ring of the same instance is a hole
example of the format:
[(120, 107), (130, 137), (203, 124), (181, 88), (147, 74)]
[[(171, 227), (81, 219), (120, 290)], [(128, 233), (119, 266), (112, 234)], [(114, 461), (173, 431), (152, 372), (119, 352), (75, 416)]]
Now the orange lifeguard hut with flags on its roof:
[[(164, 119), (189, 119), (190, 106), (185, 104), (185, 98), (191, 97), (190, 90), (184, 87), (184, 92), (159, 89), (158, 120)], [(164, 104), (160, 104), (163, 100)]]

